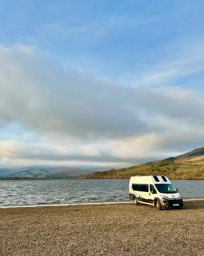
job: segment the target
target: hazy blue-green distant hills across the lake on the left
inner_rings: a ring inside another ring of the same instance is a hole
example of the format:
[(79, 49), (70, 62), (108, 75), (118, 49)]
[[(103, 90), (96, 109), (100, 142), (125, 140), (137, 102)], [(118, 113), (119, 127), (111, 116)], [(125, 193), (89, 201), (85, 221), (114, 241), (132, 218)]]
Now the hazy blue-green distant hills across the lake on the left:
[(71, 167), (0, 168), (0, 178), (73, 178), (90, 174), (88, 170)]

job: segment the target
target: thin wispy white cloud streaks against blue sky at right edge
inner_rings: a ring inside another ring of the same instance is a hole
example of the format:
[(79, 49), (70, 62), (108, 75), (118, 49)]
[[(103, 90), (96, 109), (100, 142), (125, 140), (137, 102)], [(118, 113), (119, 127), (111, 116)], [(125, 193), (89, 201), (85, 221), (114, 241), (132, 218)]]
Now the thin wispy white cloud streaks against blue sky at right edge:
[[(138, 70), (132, 77), (133, 86), (162, 86), (174, 84), (177, 79), (185, 78), (204, 71), (204, 38), (179, 38), (170, 41), (152, 53), (145, 68)], [(185, 85), (184, 85), (185, 86)]]

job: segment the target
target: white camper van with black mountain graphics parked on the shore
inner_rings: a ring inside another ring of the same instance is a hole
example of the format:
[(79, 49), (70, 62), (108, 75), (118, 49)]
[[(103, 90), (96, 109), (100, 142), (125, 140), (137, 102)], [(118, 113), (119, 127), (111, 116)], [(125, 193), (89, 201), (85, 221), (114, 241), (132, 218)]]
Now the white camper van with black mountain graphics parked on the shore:
[(134, 176), (129, 184), (130, 200), (163, 208), (179, 208), (183, 200), (166, 176)]

